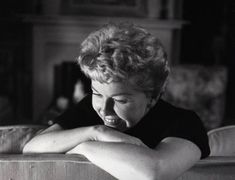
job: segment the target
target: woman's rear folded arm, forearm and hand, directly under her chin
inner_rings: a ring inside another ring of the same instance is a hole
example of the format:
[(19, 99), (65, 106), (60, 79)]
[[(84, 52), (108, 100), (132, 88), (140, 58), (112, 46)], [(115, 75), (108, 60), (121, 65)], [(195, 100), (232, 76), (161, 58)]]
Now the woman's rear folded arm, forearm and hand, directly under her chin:
[(64, 130), (59, 124), (54, 124), (32, 138), (24, 146), (23, 153), (65, 153), (86, 141), (125, 142), (145, 146), (139, 139), (104, 125)]

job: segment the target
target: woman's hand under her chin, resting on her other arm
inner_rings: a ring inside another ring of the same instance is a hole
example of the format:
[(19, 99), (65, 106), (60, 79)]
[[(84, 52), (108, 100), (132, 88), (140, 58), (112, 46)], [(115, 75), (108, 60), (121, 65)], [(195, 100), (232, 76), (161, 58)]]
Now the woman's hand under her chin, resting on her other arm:
[(94, 126), (94, 141), (129, 143), (147, 147), (140, 139), (111, 129), (105, 125)]

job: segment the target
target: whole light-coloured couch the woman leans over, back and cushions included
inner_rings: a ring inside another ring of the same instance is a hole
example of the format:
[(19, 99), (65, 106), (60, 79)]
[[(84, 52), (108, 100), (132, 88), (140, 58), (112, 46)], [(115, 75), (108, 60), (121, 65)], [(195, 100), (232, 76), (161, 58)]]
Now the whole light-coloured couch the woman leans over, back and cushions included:
[[(22, 154), (25, 143), (44, 128), (39, 125), (0, 127), (0, 180), (115, 179), (81, 155)], [(200, 160), (178, 180), (235, 179), (235, 126), (213, 129), (208, 136), (213, 149), (211, 156)]]

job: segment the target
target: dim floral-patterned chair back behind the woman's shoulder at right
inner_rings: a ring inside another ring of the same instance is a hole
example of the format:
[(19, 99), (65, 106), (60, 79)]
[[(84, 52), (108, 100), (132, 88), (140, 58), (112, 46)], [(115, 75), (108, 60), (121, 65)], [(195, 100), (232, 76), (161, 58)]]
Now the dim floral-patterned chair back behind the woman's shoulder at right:
[(174, 66), (163, 99), (194, 110), (207, 130), (219, 127), (224, 117), (227, 71), (224, 67)]

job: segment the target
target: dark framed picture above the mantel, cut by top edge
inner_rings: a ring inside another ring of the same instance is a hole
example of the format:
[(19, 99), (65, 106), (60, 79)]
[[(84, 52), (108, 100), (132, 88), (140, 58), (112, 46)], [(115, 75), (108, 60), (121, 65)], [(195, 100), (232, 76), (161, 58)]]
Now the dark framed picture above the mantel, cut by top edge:
[(62, 0), (61, 13), (91, 16), (147, 16), (146, 0)]

